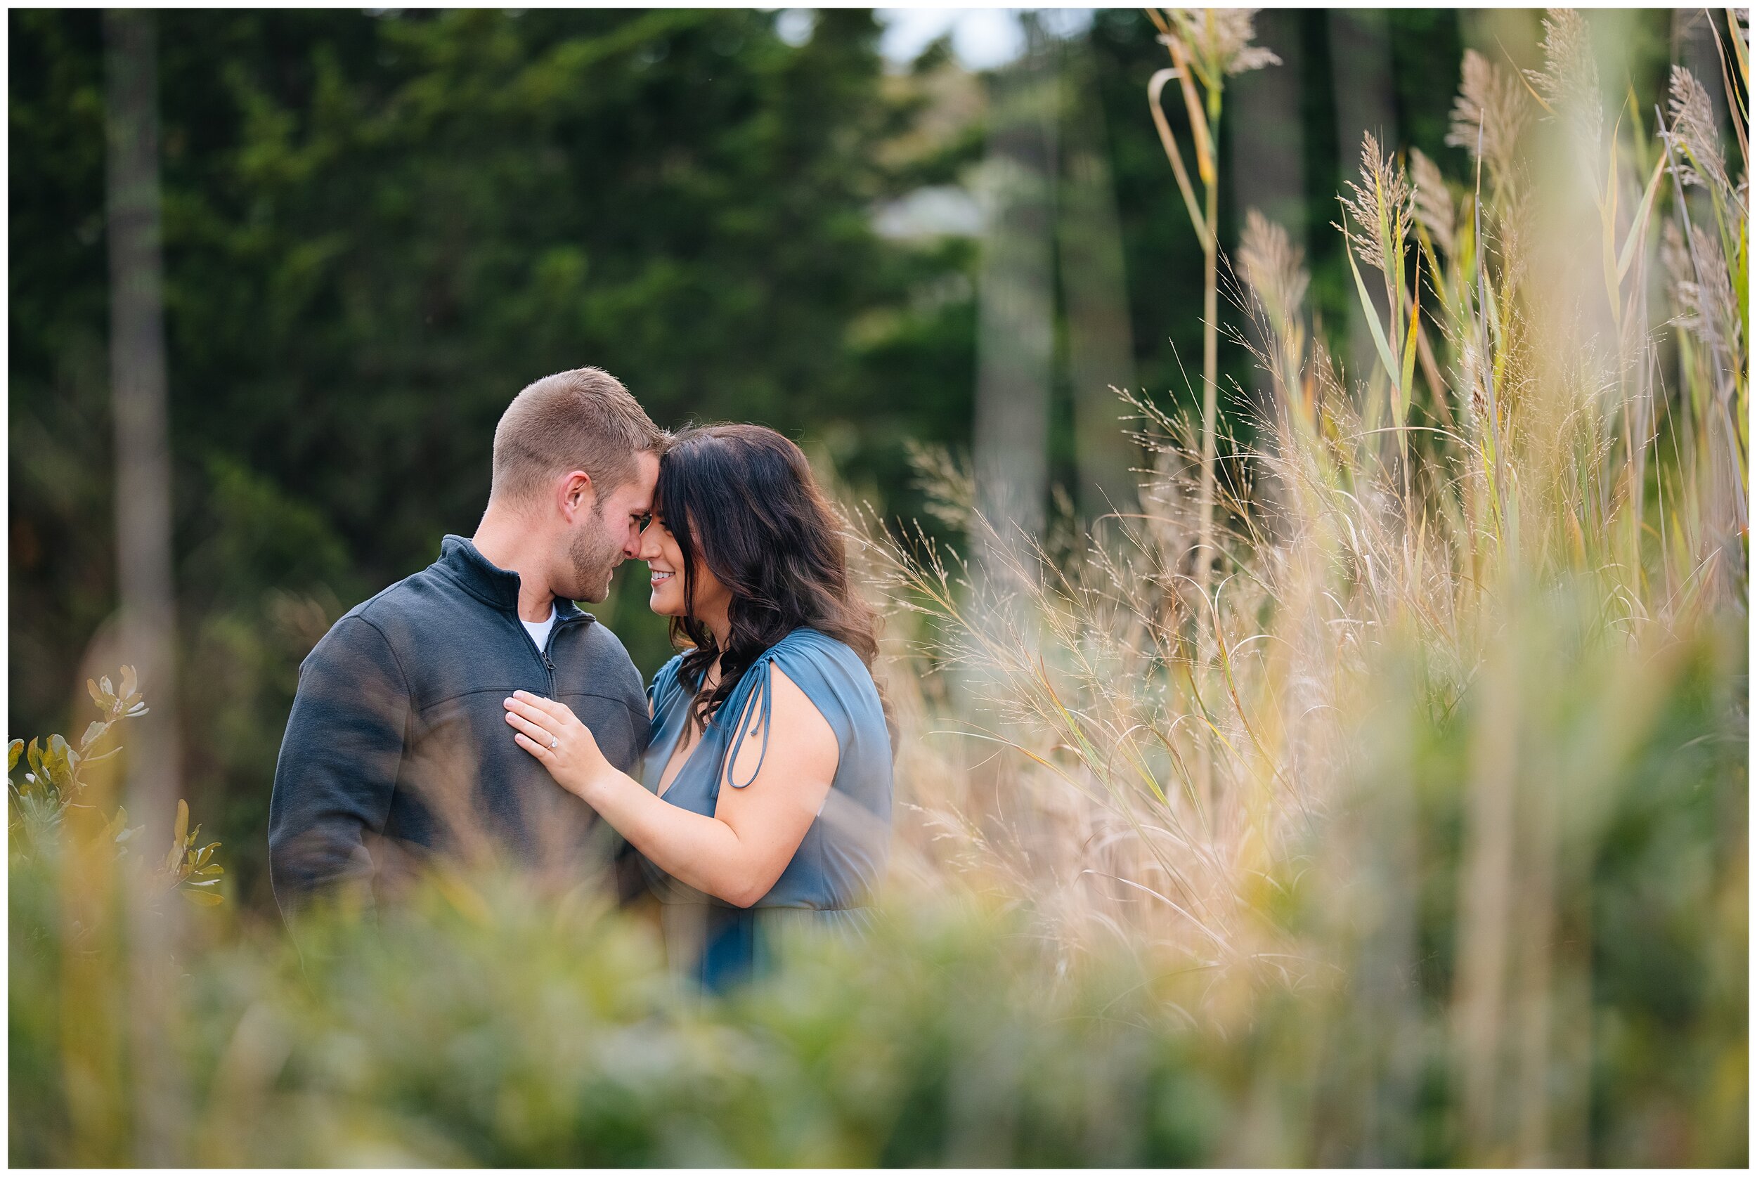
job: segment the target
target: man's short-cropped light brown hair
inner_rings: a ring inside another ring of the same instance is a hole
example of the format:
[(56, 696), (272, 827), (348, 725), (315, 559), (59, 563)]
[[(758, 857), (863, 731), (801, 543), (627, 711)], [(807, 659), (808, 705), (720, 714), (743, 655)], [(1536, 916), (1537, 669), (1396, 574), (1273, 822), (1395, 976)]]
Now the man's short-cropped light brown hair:
[(666, 434), (599, 367), (576, 367), (527, 385), (494, 429), (492, 499), (541, 494), (552, 478), (585, 471), (603, 501), (634, 478), (638, 453), (664, 451)]

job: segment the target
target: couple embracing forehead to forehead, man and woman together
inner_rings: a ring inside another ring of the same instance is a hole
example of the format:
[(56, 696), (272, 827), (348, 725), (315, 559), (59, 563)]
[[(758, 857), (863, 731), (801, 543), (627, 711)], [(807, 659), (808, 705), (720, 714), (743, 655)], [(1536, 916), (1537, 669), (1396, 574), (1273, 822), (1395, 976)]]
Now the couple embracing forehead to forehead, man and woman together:
[[(603, 601), (625, 557), (682, 652), (645, 690)], [(355, 606), (299, 669), (269, 863), (293, 913), (432, 856), (640, 880), (719, 989), (782, 924), (857, 929), (891, 833), (875, 618), (805, 455), (657, 429), (608, 372), (520, 392), (474, 538)]]

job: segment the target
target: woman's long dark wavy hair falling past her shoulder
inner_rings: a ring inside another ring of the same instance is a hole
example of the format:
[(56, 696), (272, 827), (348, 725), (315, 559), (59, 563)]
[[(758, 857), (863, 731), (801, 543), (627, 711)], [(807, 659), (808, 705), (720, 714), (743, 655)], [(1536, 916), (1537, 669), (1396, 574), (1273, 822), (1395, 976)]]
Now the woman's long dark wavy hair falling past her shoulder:
[[(659, 462), (654, 513), (683, 555), (685, 615), (671, 618), (671, 641), (685, 648), (682, 680), (694, 685), (698, 727), (764, 650), (801, 625), (847, 645), (871, 669), (877, 615), (849, 585), (836, 515), (799, 446), (763, 425), (692, 425)], [(724, 650), (696, 618), (696, 560), (733, 594)], [(705, 692), (713, 659), (720, 682)]]

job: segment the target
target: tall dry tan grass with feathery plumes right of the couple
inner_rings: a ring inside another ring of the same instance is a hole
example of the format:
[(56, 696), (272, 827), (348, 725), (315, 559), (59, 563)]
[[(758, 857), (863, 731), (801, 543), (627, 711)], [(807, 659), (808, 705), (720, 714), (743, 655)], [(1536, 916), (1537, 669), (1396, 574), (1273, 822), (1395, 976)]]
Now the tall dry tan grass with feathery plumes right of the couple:
[[(1195, 1022), (1251, 1024), (1265, 986), (1335, 994), (1353, 1047), (1327, 1058), (1370, 1079), (1339, 1080), (1363, 1114), (1418, 1119), (1444, 1058), (1458, 1156), (1486, 1163), (1602, 1144), (1608, 1024), (1641, 1017), (1606, 998), (1639, 938), (1615, 896), (1697, 871), (1738, 945), (1724, 1012), (1746, 942), (1746, 32), (1720, 30), (1732, 144), (1687, 70), (1664, 112), (1606, 111), (1585, 18), (1544, 32), (1527, 77), (1465, 56), (1469, 174), (1362, 144), (1335, 228), (1369, 371), (1337, 365), (1298, 251), (1247, 216), (1235, 343), (1276, 399), (1219, 457), (1212, 585), (1188, 573), (1209, 430), (1133, 394), (1139, 515), (987, 576), (866, 532), (938, 715), (903, 759), (917, 863), (1030, 908), (1063, 963), (1158, 961)], [(1021, 550), (944, 455), (921, 469), (973, 548)], [(1630, 833), (1655, 813), (1696, 840)], [(1743, 1029), (1699, 1045), (1736, 1105)]]

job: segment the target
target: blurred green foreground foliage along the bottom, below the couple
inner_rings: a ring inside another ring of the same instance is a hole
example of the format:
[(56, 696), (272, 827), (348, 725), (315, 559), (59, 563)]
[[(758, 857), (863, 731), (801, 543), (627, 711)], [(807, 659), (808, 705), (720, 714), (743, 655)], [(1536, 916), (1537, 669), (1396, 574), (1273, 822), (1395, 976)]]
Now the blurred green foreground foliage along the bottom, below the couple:
[[(134, 1087), (174, 1075), (165, 1147), (193, 1165), (1446, 1165), (1522, 1131), (1595, 1165), (1741, 1165), (1743, 634), (1632, 652), (1571, 608), (1536, 601), (1450, 713), (1413, 689), (1420, 650), (1379, 664), (1356, 792), (1262, 880), (1249, 919), (1281, 952), (1246, 971), (1128, 936), (1070, 954), (979, 877), (900, 878), (871, 940), (799, 943), (715, 1001), (590, 885), (445, 877), (376, 924), (304, 924), (302, 964), (279, 928), (190, 912), (174, 1066), (148, 1079), (128, 871), (95, 896), (67, 847), (14, 852), (11, 1161), (137, 1161)], [(1485, 757), (1506, 852), (1553, 841), (1553, 903), (1502, 896), (1493, 943), (1462, 910)], [(1504, 963), (1504, 1031), (1469, 1022), (1460, 952)]]

